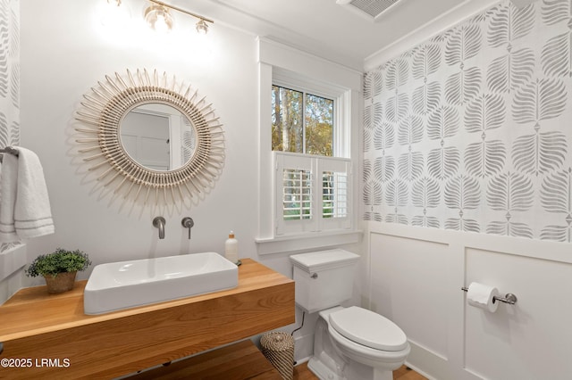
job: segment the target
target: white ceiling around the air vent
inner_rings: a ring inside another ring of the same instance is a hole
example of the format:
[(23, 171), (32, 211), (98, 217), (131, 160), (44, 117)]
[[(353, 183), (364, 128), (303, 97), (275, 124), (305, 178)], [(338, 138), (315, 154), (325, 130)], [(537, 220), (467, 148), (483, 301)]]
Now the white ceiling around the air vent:
[(400, 0), (376, 20), (336, 0), (172, 0), (171, 4), (200, 12), (215, 24), (363, 71), (371, 62), (381, 64), (391, 54), (401, 53), (400, 42), (416, 45), (495, 3), (499, 0)]

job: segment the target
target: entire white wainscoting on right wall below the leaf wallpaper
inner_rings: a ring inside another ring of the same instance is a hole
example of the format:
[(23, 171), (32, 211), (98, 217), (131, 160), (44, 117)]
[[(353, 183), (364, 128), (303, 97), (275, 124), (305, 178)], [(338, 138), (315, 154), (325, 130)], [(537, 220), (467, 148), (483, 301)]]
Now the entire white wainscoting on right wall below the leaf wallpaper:
[[(370, 307), (408, 335), (410, 367), (438, 380), (572, 378), (570, 244), (370, 222)], [(462, 286), (492, 285), (494, 313)]]

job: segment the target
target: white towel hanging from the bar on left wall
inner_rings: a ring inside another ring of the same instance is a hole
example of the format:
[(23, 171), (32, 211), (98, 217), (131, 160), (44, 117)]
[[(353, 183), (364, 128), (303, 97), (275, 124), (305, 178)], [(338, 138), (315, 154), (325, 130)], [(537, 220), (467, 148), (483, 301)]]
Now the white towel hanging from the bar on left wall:
[[(5, 196), (7, 198), (5, 204), (8, 210), (5, 213), (4, 210), (0, 210), (0, 239), (4, 238), (4, 232), (7, 239), (13, 239), (15, 233), (17, 235), (16, 240), (53, 234), (55, 231), (54, 220), (52, 219), (42, 164), (36, 153), (21, 147), (14, 148), (19, 153), (18, 158), (12, 154), (4, 154), (2, 181), (0, 181), (0, 186), (2, 186), (0, 188), (2, 196), (0, 205), (4, 209)], [(12, 172), (14, 160), (17, 167), (16, 176)], [(9, 170), (9, 173), (4, 176), (6, 169)], [(15, 186), (12, 183), (14, 179)], [(12, 203), (14, 204), (13, 231), (10, 227), (10, 217), (7, 215)]]

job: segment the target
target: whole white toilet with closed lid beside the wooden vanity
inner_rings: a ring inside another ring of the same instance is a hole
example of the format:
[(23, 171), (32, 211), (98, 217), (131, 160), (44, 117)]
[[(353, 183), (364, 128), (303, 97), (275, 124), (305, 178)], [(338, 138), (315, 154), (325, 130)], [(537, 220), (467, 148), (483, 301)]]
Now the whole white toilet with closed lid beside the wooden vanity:
[(290, 256), (296, 303), (320, 316), (308, 368), (327, 380), (391, 380), (410, 351), (405, 333), (373, 311), (340, 306), (351, 298), (357, 260), (339, 249)]

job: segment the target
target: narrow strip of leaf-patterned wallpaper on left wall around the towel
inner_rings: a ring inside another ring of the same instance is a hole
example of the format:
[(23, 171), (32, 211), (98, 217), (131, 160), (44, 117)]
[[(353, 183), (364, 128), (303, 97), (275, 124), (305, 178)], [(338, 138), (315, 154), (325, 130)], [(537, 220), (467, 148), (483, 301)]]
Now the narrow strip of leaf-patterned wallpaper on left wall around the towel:
[[(7, 145), (20, 145), (20, 2), (18, 0), (0, 0), (0, 147)], [(0, 252), (18, 244), (20, 243), (0, 244)]]

